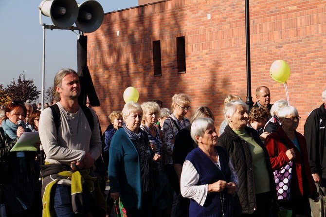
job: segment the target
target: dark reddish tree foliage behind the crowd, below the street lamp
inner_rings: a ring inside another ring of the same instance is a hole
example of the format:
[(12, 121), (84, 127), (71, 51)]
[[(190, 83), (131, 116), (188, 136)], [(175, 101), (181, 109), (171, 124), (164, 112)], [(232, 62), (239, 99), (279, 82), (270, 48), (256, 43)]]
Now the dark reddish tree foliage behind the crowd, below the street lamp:
[(7, 85), (5, 93), (11, 100), (26, 102), (26, 100), (29, 99), (31, 102), (33, 102), (38, 99), (38, 95), (41, 93), (41, 91), (37, 90), (33, 79), (21, 80), (18, 78), (17, 83), (15, 80), (13, 80), (11, 84)]

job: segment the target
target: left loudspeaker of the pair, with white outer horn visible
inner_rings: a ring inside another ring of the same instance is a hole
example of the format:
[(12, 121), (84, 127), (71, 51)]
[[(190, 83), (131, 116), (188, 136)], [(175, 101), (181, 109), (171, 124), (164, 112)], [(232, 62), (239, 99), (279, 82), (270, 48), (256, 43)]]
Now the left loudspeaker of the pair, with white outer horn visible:
[(78, 17), (78, 4), (75, 0), (43, 0), (39, 5), (44, 16), (51, 18), (54, 26), (67, 29)]

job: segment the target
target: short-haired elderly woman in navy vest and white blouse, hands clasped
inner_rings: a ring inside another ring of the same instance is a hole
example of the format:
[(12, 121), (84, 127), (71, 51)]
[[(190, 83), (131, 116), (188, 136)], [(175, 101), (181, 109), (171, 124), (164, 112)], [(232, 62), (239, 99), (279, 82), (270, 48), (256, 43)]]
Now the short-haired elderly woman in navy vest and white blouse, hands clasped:
[(181, 194), (191, 198), (189, 216), (233, 217), (238, 178), (227, 151), (217, 146), (214, 121), (196, 119), (191, 137), (198, 147), (187, 155), (181, 173)]

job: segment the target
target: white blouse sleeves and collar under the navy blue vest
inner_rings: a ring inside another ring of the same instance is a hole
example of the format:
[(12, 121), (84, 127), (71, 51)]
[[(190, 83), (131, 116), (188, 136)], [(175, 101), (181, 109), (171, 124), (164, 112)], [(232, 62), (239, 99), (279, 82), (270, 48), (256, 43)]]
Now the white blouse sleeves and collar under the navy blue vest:
[[(217, 167), (220, 169), (219, 157), (215, 164), (217, 164)], [(235, 182), (236, 186), (238, 186), (239, 179), (235, 173), (231, 160), (229, 160), (229, 167), (231, 170), (230, 181)], [(181, 172), (181, 195), (184, 198), (194, 199), (199, 205), (203, 206), (208, 194), (208, 184), (197, 185), (198, 181), (199, 173), (190, 161), (185, 160)]]

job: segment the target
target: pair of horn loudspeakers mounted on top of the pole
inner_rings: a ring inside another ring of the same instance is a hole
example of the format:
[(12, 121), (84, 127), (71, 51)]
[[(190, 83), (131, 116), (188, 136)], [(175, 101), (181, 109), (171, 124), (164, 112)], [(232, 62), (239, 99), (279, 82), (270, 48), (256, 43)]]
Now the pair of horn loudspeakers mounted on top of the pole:
[(95, 0), (81, 4), (75, 0), (43, 0), (38, 9), (44, 16), (51, 18), (54, 26), (67, 29), (76, 23), (84, 33), (97, 30), (104, 18), (102, 6)]

